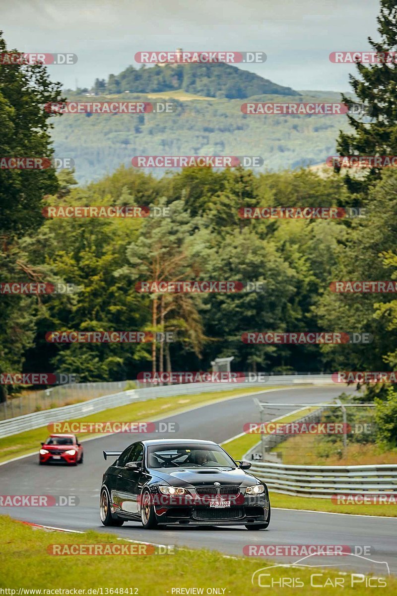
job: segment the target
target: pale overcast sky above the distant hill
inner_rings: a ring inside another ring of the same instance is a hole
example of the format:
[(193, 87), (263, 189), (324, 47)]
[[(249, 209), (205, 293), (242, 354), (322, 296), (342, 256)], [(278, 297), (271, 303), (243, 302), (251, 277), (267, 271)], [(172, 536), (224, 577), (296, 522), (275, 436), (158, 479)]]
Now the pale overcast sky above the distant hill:
[(66, 88), (90, 87), (134, 61), (138, 51), (263, 51), (242, 66), (295, 89), (347, 91), (355, 68), (332, 51), (370, 49), (376, 0), (0, 0), (8, 48), (73, 52), (77, 64), (49, 67)]

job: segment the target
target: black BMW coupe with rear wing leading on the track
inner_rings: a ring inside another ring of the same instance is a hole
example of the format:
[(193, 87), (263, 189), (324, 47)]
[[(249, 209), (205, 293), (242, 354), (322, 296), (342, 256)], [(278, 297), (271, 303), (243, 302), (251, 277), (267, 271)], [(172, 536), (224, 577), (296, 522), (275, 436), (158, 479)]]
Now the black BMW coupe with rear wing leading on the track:
[(245, 525), (270, 523), (267, 486), (247, 473), (217, 443), (190, 439), (143, 440), (123, 452), (105, 471), (99, 512), (104, 526), (140, 520), (151, 529), (164, 525)]

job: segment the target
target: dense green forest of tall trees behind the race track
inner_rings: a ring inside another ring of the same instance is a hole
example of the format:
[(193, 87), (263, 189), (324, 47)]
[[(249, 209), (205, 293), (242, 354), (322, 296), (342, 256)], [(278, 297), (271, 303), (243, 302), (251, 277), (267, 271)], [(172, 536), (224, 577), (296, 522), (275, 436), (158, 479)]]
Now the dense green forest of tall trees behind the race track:
[[(395, 31), (396, 8), (383, 0), (382, 41), (374, 47), (390, 50)], [(361, 101), (373, 105), (373, 119), (365, 124), (351, 119), (351, 132), (339, 136), (340, 154), (395, 155), (395, 65), (357, 68), (352, 86)], [(18, 99), (18, 88), (29, 94), (29, 103)], [(51, 156), (52, 115), (41, 106), (60, 100), (60, 86), (49, 82), (45, 67), (3, 66), (1, 153)], [(329, 288), (335, 280), (397, 279), (393, 169), (324, 176), (308, 169), (254, 174), (187, 168), (157, 179), (121, 166), (87, 187), (77, 186), (67, 170), (58, 177), (51, 169), (0, 170), (0, 183), (2, 280), (76, 287), (73, 294), (1, 296), (0, 371), (122, 380), (152, 368), (208, 370), (217, 356), (234, 356), (233, 368), (242, 371), (396, 368), (395, 294), (337, 294)], [(42, 208), (54, 205), (168, 206), (171, 215), (44, 219)], [(252, 220), (239, 218), (242, 206), (360, 207), (365, 217)], [(160, 295), (135, 289), (137, 281), (160, 278), (259, 281), (264, 291)], [(51, 330), (173, 331), (175, 341), (51, 344), (45, 340)], [(251, 345), (241, 340), (246, 331), (364, 332), (373, 335), (373, 343)], [(4, 398), (4, 386), (2, 392)], [(393, 389), (386, 393), (395, 408)]]

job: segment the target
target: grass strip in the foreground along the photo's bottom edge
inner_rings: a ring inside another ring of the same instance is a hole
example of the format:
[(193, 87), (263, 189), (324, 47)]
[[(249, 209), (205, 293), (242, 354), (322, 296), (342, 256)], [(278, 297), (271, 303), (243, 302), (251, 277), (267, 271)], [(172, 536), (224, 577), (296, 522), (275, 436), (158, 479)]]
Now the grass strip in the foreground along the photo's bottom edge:
[[(0, 588), (31, 589), (98, 589), (102, 588), (137, 588), (131, 594), (138, 596), (165, 596), (173, 588), (224, 588), (225, 595), (264, 594), (264, 588), (252, 586), (252, 573), (267, 563), (262, 558), (224, 557), (209, 550), (176, 550), (175, 554), (166, 555), (61, 555), (48, 554), (48, 547), (54, 544), (127, 544), (118, 541), (115, 535), (87, 532), (85, 534), (67, 534), (62, 532), (44, 532), (32, 529), (26, 524), (15, 522), (9, 517), (0, 517), (2, 570)], [(208, 537), (210, 539), (210, 534)], [(247, 542), (251, 533), (247, 532)], [(148, 532), (150, 541), (150, 532)], [(325, 562), (325, 561), (324, 561)], [(283, 577), (300, 578), (305, 584), (301, 594), (318, 594), (318, 588), (310, 585), (312, 573), (319, 569), (286, 569), (278, 567), (271, 571), (275, 579)], [(379, 575), (379, 574), (377, 574)], [(336, 571), (324, 570), (322, 582), (326, 578), (344, 578), (346, 586), (343, 594), (364, 594), (363, 583), (351, 587), (351, 575), (338, 576)], [(319, 578), (315, 578), (317, 583)], [(330, 581), (330, 580), (329, 580)], [(342, 581), (342, 579), (341, 579)], [(397, 579), (386, 577), (389, 593), (396, 593)], [(114, 593), (114, 592), (113, 592)], [(119, 592), (120, 593), (120, 592)], [(182, 592), (183, 593), (183, 592)], [(222, 593), (222, 592), (221, 592)], [(100, 594), (100, 592), (99, 592)], [(186, 594), (186, 592), (185, 592)], [(296, 588), (276, 586), (272, 594), (285, 596), (296, 594)], [(321, 594), (335, 596), (335, 588), (327, 586)]]

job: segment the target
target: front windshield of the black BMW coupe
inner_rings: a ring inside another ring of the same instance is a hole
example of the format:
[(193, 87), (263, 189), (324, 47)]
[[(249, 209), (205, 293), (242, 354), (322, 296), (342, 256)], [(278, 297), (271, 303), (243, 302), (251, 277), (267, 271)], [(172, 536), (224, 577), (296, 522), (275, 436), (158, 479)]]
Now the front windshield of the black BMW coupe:
[(149, 445), (149, 468), (236, 468), (218, 445)]

